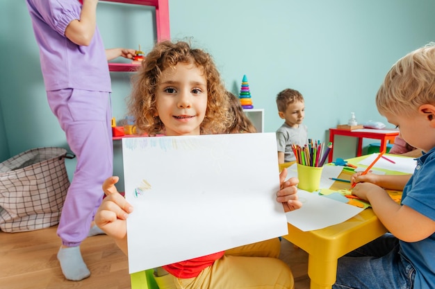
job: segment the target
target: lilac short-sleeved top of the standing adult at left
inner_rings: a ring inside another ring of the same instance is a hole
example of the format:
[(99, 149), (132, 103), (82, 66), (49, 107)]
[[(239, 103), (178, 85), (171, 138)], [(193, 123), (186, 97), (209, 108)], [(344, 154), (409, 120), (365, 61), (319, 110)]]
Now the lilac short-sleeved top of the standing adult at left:
[(31, 15), (47, 91), (84, 89), (111, 91), (110, 73), (98, 28), (89, 46), (67, 39), (65, 29), (80, 19), (78, 0), (26, 0)]

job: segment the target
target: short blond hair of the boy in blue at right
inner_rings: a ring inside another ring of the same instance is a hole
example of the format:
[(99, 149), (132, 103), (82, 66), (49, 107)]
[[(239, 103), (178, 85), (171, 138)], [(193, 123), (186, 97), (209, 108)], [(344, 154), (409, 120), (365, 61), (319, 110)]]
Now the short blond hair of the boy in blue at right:
[(435, 104), (435, 43), (397, 60), (376, 96), (377, 110), (382, 115), (409, 115), (428, 103)]

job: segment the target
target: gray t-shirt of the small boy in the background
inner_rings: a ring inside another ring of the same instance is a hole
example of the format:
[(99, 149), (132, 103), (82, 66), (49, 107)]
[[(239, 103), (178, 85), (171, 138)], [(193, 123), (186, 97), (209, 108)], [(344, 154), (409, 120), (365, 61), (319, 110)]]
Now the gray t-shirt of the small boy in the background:
[(284, 161), (295, 161), (296, 157), (291, 148), (292, 144), (304, 146), (308, 143), (308, 128), (300, 124), (299, 128), (291, 128), (283, 123), (277, 130), (277, 146), (279, 152), (284, 152)]

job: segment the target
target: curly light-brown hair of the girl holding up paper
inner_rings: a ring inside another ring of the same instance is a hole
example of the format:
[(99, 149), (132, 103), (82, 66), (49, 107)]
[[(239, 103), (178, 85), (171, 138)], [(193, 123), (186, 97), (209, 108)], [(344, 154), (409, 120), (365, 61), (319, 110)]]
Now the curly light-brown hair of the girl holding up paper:
[(201, 123), (201, 133), (222, 133), (229, 127), (229, 100), (227, 89), (220, 78), (211, 55), (193, 49), (187, 42), (159, 42), (142, 61), (133, 76), (133, 91), (128, 101), (129, 113), (135, 119), (139, 132), (158, 134), (165, 132), (165, 125), (157, 115), (156, 89), (165, 69), (179, 64), (194, 64), (202, 69), (207, 82), (206, 117)]

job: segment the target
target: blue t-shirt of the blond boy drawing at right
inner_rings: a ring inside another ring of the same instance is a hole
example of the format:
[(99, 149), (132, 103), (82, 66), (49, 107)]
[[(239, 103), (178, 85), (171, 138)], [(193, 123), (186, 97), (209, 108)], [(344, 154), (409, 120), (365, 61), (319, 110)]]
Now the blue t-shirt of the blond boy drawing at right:
[[(435, 220), (435, 148), (417, 159), (416, 170), (404, 187), (402, 204)], [(435, 233), (418, 242), (401, 240), (400, 253), (416, 269), (414, 288), (435, 288)]]

